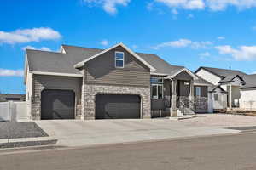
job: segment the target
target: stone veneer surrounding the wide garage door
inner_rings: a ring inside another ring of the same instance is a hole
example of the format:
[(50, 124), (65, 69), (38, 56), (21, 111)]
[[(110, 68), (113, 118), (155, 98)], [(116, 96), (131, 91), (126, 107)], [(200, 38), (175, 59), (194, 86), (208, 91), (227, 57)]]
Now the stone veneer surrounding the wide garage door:
[(151, 118), (150, 87), (128, 87), (113, 85), (84, 84), (82, 89), (82, 117), (85, 120), (96, 117), (96, 94), (133, 94), (141, 97), (142, 118)]

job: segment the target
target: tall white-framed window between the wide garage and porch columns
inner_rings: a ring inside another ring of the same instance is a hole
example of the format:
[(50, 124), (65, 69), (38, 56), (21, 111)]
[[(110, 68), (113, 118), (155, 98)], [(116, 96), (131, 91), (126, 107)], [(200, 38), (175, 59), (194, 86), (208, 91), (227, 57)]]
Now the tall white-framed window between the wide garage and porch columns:
[(150, 82), (152, 99), (163, 99), (163, 79), (161, 77), (151, 77)]

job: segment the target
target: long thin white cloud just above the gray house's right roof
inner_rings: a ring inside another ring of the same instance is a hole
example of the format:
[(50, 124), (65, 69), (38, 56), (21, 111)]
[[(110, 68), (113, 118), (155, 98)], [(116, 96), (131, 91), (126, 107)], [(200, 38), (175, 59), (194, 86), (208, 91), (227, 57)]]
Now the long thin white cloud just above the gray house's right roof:
[(177, 41), (163, 42), (151, 48), (160, 49), (160, 48), (166, 48), (166, 47), (171, 47), (171, 48), (189, 47), (189, 48), (199, 49), (199, 48), (208, 48), (211, 45), (212, 45), (212, 42), (193, 42), (189, 39), (179, 39)]

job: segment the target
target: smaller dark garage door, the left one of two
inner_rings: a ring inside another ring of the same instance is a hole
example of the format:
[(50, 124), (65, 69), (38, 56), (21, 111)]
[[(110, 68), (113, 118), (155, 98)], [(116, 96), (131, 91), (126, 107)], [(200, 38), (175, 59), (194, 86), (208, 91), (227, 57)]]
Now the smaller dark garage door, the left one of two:
[(72, 90), (44, 90), (41, 94), (41, 119), (73, 119), (74, 104)]

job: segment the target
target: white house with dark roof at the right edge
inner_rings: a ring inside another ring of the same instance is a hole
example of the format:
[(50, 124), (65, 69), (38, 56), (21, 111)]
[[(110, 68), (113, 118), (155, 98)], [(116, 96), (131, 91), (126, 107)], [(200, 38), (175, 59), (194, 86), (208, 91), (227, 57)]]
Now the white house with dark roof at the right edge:
[(256, 109), (256, 75), (211, 67), (200, 67), (195, 74), (214, 85), (214, 110)]

